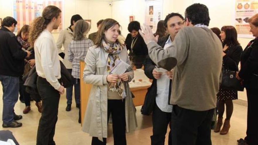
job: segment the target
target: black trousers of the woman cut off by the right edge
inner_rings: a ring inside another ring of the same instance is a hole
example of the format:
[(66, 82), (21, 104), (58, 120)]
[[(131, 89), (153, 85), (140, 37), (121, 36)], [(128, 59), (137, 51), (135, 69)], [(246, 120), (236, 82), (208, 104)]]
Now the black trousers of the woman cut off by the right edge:
[(247, 130), (245, 140), (248, 145), (258, 144), (258, 90), (246, 88), (247, 92)]

